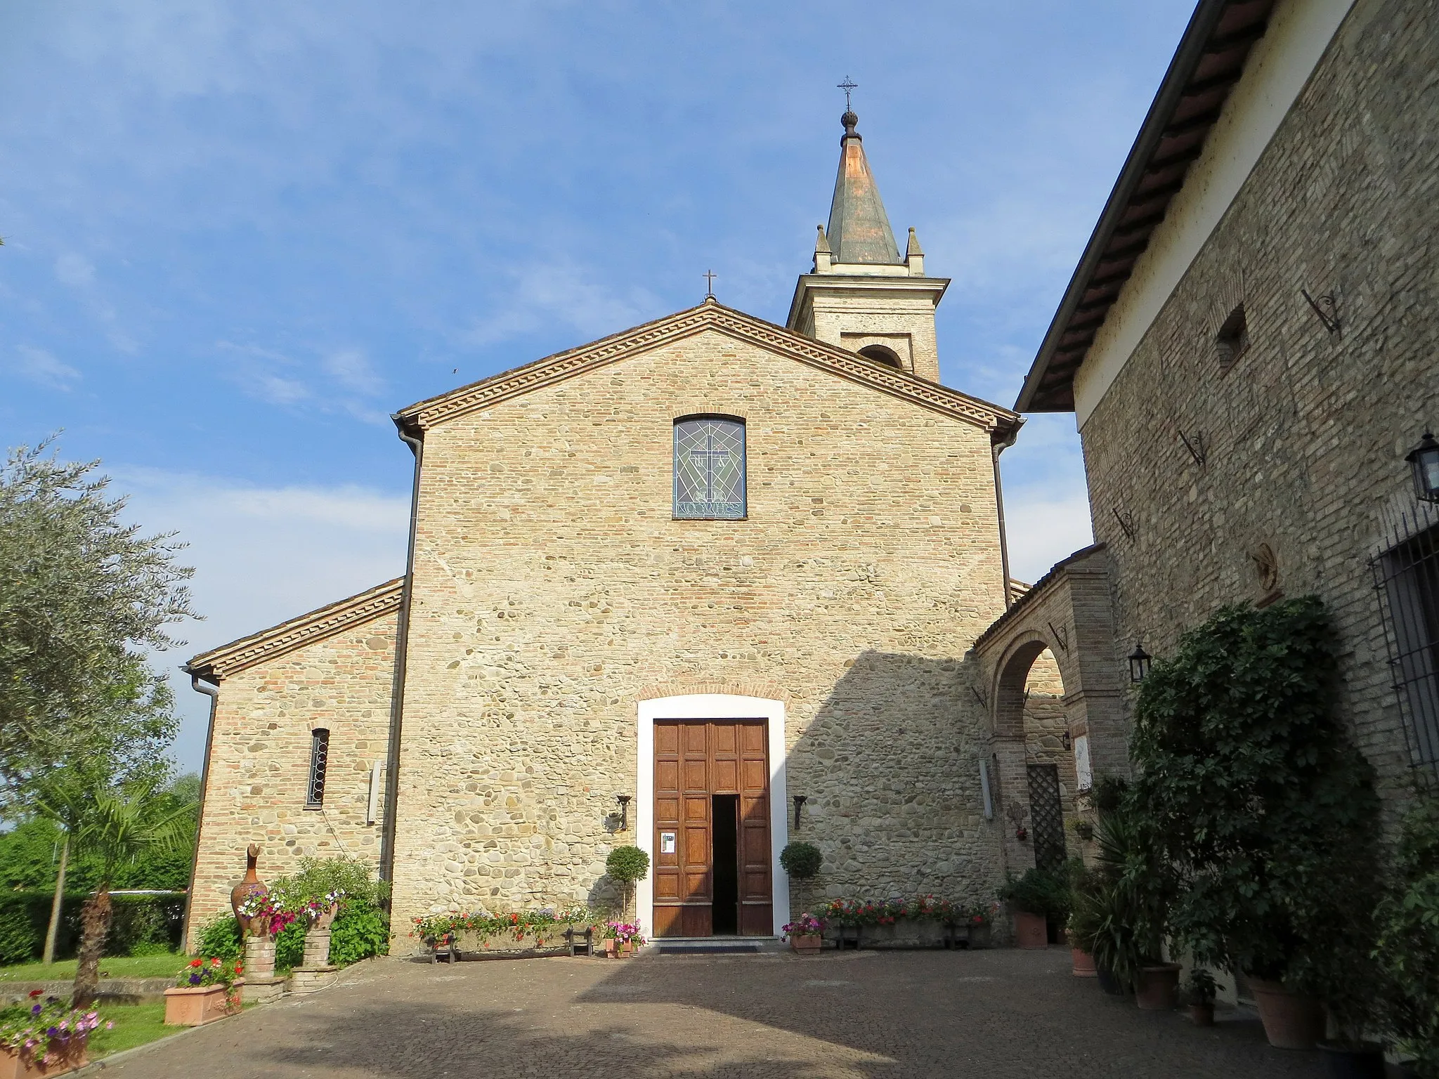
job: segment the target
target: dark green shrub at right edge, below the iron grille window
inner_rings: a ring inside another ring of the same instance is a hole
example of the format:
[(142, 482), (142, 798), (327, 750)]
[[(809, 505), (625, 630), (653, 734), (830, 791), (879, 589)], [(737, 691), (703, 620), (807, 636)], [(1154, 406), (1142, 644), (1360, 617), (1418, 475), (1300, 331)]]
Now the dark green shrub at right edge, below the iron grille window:
[(1420, 797), (1404, 819), (1379, 906), (1374, 955), (1384, 971), (1389, 1033), (1415, 1070), (1439, 1076), (1439, 798)]

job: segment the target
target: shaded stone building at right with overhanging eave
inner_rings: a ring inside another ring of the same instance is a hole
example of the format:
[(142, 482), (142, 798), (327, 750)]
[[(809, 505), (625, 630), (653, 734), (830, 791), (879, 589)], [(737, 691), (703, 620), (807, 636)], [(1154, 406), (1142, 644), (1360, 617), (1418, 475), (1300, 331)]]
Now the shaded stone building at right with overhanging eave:
[[(1439, 762), (1439, 514), (1406, 462), (1439, 424), (1436, 70), (1432, 3), (1200, 3), (1016, 404), (1084, 442), (1089, 659), (1127, 680), (1220, 604), (1317, 593), (1392, 804)], [(1058, 647), (1039, 591), (990, 678), (1022, 626)]]

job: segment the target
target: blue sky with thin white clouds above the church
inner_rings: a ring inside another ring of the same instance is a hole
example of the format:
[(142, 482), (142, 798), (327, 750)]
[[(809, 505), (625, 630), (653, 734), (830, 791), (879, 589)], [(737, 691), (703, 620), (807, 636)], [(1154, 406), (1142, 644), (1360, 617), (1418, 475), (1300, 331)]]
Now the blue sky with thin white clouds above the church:
[[(783, 322), (843, 95), (944, 380), (1012, 404), (1191, 12), (1112, 3), (0, 13), (0, 430), (178, 531), (194, 650), (403, 570), (400, 406), (689, 306)], [(1072, 417), (1006, 452), (1016, 575), (1088, 542)], [(177, 760), (204, 709), (184, 686)]]

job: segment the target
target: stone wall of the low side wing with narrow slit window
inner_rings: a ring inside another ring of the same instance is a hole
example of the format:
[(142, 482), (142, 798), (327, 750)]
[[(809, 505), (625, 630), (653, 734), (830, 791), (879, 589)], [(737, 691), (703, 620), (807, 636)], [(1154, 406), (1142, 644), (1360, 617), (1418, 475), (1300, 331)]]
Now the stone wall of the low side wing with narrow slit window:
[[(240, 670), (220, 683), (200, 821), (190, 939), (230, 909), (245, 847), (260, 844), (259, 876), (295, 860), (350, 855), (378, 866), (384, 784), (366, 824), (370, 767), (384, 761), (394, 672), (393, 613)], [(330, 731), (324, 811), (305, 809), (311, 731)]]

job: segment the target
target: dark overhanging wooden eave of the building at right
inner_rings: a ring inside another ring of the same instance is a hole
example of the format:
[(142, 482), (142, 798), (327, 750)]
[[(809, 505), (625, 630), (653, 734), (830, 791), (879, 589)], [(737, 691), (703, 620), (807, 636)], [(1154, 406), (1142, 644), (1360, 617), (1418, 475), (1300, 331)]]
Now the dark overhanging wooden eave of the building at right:
[(1072, 411), (1073, 377), (1200, 155), (1275, 0), (1200, 0), (1085, 245), (1016, 411)]

